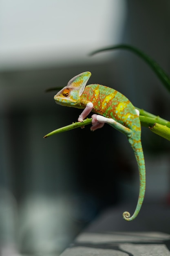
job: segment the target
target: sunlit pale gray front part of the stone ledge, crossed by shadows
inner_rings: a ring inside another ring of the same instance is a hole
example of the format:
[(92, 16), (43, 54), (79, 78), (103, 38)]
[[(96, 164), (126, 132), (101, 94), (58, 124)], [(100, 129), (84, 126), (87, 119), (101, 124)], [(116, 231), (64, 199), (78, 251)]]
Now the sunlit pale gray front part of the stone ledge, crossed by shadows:
[(170, 256), (169, 249), (161, 232), (84, 232), (60, 256)]

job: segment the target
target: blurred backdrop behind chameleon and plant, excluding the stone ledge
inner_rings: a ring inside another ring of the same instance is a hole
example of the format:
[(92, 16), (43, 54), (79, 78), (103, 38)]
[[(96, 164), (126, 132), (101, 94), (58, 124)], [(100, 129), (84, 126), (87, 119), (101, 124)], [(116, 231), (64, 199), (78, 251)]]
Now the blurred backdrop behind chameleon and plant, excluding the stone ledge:
[[(105, 209), (124, 202), (135, 209), (139, 175), (124, 135), (105, 125), (43, 139), (81, 112), (56, 105), (57, 90), (45, 90), (84, 71), (89, 83), (170, 120), (170, 94), (141, 59), (123, 50), (89, 56), (118, 43), (145, 51), (170, 74), (170, 2), (0, 1), (1, 255), (59, 255)], [(168, 207), (170, 143), (142, 128), (142, 144), (145, 204)]]

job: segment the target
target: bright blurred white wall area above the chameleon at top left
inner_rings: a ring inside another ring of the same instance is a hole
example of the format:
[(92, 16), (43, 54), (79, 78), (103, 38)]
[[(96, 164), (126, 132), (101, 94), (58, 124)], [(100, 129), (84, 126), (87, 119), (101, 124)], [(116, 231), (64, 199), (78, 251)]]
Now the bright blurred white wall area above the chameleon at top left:
[(2, 0), (0, 69), (89, 61), (92, 50), (119, 42), (125, 6), (119, 0)]

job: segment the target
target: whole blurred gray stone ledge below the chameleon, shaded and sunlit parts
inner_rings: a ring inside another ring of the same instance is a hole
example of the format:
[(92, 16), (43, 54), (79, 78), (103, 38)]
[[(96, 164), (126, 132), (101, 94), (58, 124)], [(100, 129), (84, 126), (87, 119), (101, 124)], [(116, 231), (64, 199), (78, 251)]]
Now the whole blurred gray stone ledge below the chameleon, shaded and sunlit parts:
[(125, 209), (101, 213), (60, 256), (170, 256), (170, 208), (143, 205), (132, 222), (123, 220)]

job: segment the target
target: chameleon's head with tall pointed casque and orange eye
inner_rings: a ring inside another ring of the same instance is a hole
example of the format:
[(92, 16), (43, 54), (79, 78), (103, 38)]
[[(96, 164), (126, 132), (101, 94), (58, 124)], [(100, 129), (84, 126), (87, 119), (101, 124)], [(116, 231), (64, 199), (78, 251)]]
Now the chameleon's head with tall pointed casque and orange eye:
[(90, 76), (91, 72), (88, 71), (74, 76), (68, 82), (67, 86), (54, 96), (55, 102), (62, 106), (75, 106), (79, 97), (81, 97), (84, 92), (84, 88)]

